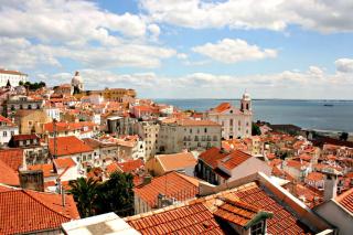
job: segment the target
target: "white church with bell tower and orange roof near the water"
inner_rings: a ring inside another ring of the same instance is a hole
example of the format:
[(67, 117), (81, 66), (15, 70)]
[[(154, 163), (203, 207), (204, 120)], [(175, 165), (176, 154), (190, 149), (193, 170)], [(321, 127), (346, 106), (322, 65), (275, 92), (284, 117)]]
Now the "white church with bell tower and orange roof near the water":
[(222, 103), (208, 110), (205, 119), (222, 126), (222, 138), (235, 139), (252, 136), (253, 107), (249, 94), (245, 93), (240, 99), (240, 108), (231, 103)]

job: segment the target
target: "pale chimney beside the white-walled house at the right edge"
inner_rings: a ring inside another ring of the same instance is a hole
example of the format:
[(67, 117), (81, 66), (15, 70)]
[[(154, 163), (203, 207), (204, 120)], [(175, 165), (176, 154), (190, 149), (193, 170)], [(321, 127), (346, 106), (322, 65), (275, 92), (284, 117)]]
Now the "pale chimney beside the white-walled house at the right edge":
[(324, 192), (323, 192), (323, 200), (330, 201), (338, 195), (338, 179), (340, 172), (334, 169), (324, 169)]

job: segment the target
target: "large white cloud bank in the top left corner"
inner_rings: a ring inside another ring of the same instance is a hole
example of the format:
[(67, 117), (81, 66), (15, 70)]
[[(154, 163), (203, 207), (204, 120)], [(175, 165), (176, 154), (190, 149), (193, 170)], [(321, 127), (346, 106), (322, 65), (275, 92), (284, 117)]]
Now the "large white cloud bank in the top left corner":
[[(17, 3), (14, 3), (17, 2)], [(1, 1), (0, 35), (36, 38), (43, 42), (99, 41), (111, 36), (145, 36), (146, 22), (130, 13), (115, 14), (89, 1)]]

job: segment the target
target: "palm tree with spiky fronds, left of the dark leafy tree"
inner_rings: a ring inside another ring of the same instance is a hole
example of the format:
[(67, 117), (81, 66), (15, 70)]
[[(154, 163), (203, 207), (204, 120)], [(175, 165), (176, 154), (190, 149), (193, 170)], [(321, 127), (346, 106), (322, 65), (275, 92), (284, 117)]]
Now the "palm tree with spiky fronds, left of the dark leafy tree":
[(82, 217), (96, 214), (96, 201), (98, 199), (98, 183), (93, 179), (78, 178), (69, 182), (71, 190)]

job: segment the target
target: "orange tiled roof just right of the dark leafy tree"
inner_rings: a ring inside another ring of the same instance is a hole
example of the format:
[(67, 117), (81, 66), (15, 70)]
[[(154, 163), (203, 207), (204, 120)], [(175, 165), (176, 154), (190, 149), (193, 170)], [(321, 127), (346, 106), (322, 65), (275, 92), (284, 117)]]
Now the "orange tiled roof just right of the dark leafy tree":
[(162, 177), (152, 179), (149, 184), (135, 188), (135, 194), (156, 207), (158, 194), (162, 193), (167, 197), (174, 197), (178, 201), (193, 199), (199, 193), (199, 181), (194, 178), (181, 173), (170, 172)]

